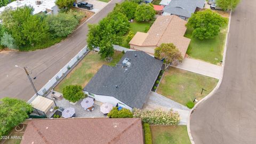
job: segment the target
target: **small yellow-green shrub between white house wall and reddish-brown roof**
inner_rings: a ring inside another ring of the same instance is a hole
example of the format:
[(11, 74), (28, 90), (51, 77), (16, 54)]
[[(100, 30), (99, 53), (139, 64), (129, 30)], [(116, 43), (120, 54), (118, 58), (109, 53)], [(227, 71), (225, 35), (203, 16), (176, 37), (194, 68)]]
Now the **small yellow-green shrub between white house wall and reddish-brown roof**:
[(110, 113), (108, 113), (108, 117), (110, 118), (131, 118), (132, 112), (129, 109), (122, 108), (118, 110), (117, 107), (113, 108)]

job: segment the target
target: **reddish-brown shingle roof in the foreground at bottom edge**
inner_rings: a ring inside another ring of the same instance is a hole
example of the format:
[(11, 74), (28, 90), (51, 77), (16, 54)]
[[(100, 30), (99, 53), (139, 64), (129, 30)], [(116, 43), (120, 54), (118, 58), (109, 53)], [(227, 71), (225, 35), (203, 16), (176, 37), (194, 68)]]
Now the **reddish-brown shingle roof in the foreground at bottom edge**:
[(33, 119), (21, 144), (143, 143), (140, 118)]

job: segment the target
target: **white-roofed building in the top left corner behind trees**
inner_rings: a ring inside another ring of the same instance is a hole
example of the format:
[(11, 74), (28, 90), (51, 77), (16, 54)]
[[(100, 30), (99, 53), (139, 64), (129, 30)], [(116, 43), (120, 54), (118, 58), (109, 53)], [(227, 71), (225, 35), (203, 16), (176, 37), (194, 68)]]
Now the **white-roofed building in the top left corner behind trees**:
[(23, 6), (32, 6), (34, 8), (33, 14), (45, 13), (45, 14), (57, 14), (59, 12), (58, 6), (55, 4), (55, 0), (23, 0), (23, 1), (14, 1), (6, 6), (0, 8), (0, 13), (2, 13), (6, 8), (10, 7), (15, 10), (18, 7)]

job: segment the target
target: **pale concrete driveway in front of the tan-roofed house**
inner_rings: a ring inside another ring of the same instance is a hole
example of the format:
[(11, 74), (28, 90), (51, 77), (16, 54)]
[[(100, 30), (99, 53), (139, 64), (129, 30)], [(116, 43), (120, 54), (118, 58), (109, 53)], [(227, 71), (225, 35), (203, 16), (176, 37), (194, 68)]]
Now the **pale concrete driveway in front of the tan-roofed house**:
[(173, 67), (188, 70), (188, 71), (205, 75), (205, 76), (214, 77), (217, 79), (220, 79), (220, 75), (221, 75), (221, 66), (213, 65), (208, 62), (190, 59), (190, 58), (183, 59), (180, 65), (173, 66)]

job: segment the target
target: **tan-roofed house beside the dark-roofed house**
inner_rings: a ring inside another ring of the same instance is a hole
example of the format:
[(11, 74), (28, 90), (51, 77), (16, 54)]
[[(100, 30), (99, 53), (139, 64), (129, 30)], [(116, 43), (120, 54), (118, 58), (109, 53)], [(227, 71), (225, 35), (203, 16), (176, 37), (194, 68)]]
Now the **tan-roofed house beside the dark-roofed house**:
[(130, 48), (154, 55), (155, 48), (162, 43), (173, 43), (185, 57), (190, 39), (184, 37), (187, 21), (176, 15), (157, 17), (148, 33), (137, 32), (130, 41)]

